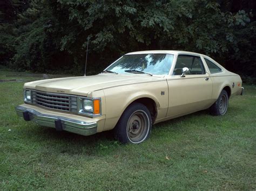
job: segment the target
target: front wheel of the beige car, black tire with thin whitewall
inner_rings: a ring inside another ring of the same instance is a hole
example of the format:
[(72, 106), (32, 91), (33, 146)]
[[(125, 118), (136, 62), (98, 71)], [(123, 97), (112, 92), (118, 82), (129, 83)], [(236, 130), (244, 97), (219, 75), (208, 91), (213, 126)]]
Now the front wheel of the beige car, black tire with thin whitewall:
[(121, 143), (138, 144), (149, 138), (152, 119), (149, 110), (142, 103), (132, 103), (120, 117), (114, 133)]

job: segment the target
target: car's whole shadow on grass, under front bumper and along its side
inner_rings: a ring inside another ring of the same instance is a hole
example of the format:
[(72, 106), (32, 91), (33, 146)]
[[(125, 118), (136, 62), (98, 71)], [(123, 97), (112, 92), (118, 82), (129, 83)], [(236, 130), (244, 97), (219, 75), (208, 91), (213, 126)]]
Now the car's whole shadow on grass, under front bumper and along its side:
[[(232, 110), (239, 110), (239, 108), (232, 107)], [(165, 133), (179, 134), (189, 131), (187, 124), (192, 123), (193, 119), (196, 118), (199, 118), (200, 122), (201, 117), (207, 116), (212, 117), (207, 110), (203, 110), (153, 125), (152, 137), (149, 138), (151, 139), (150, 142), (156, 142), (157, 144), (158, 139), (161, 139), (159, 135), (165, 135)], [(213, 118), (212, 120), (214, 120)], [(183, 126), (183, 124), (186, 125)], [(33, 122), (30, 122), (28, 126), (26, 125), (26, 128), (23, 129), (23, 138), (29, 140), (32, 144), (47, 147), (56, 153), (69, 155), (113, 155), (118, 150), (127, 148), (114, 139), (113, 131), (104, 131), (91, 136), (81, 136), (67, 131), (57, 132), (53, 128), (39, 126)], [(147, 142), (143, 144), (147, 145)]]

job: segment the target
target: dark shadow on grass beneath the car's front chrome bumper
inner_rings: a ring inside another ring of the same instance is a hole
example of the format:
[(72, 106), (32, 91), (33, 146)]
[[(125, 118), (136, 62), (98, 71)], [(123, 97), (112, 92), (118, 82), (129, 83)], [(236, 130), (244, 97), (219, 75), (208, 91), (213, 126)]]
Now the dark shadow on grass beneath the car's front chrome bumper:
[[(112, 131), (104, 131), (91, 136), (82, 136), (67, 131), (39, 126), (33, 122), (23, 128), (22, 139), (29, 145), (37, 145), (42, 153), (68, 155), (112, 154), (120, 145)], [(43, 154), (44, 155), (44, 154)]]

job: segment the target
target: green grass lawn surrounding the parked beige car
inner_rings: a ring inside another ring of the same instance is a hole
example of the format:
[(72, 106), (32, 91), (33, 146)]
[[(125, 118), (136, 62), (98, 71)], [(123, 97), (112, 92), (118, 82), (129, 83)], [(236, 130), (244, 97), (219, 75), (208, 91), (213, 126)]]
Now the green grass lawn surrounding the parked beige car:
[[(17, 75), (0, 71), (0, 79)], [(7, 76), (7, 77), (6, 77)], [(207, 111), (153, 126), (139, 145), (83, 137), (18, 118), (24, 82), (0, 82), (0, 189), (256, 189), (256, 86)]]

